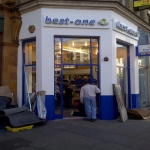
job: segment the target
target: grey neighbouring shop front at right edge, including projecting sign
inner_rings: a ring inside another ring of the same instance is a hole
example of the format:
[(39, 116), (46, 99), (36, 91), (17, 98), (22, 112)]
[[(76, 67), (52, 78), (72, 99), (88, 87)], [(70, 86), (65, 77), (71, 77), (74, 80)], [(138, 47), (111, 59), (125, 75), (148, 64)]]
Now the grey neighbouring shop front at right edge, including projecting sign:
[(138, 45), (136, 49), (139, 66), (140, 108), (150, 107), (150, 45)]

